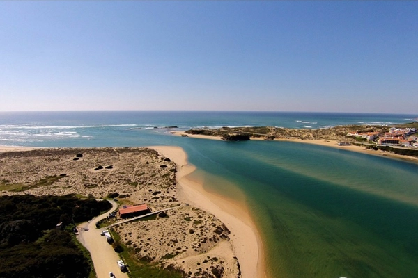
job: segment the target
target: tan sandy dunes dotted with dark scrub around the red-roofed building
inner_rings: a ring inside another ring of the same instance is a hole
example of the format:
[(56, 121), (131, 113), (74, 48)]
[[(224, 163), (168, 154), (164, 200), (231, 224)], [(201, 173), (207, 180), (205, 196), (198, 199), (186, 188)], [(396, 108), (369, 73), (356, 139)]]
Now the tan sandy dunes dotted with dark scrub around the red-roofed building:
[[(197, 198), (200, 194), (183, 186), (185, 174), (194, 167), (185, 163), (186, 155), (180, 148), (155, 149), (59, 148), (0, 152), (0, 194), (76, 193), (102, 198), (118, 193), (119, 204), (146, 203), (153, 211), (174, 207), (167, 215), (127, 222), (114, 229), (121, 241), (132, 247), (139, 261), (157, 263), (163, 268), (180, 268), (187, 277), (241, 277), (241, 264), (242, 277), (256, 277), (250, 268), (256, 269), (257, 259), (251, 261), (254, 256), (240, 254), (245, 248), (235, 242), (235, 238), (252, 236), (248, 240), (252, 244), (249, 248), (258, 250), (253, 230), (247, 226), (249, 234), (242, 234), (232, 221), (230, 227), (229, 222), (224, 222), (225, 225), (219, 220), (218, 215), (227, 214), (224, 211), (214, 210), (215, 216), (212, 211), (207, 212), (209, 206), (198, 208), (188, 205), (194, 202), (185, 204), (183, 196)], [(167, 157), (171, 155), (173, 158)], [(178, 163), (178, 158), (184, 160)], [(243, 261), (238, 263), (237, 257)]]

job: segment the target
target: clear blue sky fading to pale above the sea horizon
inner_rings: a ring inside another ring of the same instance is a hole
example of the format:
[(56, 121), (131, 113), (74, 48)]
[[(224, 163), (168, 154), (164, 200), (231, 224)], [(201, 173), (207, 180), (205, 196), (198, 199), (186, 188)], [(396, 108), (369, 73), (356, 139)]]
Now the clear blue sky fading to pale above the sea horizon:
[(0, 1), (0, 111), (418, 113), (418, 1)]

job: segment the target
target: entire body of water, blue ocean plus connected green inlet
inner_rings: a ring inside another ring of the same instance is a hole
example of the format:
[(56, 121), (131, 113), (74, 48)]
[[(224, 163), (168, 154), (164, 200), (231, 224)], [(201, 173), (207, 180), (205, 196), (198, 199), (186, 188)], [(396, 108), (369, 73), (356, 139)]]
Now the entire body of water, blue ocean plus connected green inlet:
[[(249, 206), (270, 277), (418, 277), (418, 164), (297, 142), (172, 136), (192, 127), (401, 124), (418, 115), (0, 112), (0, 145), (183, 147), (206, 190)], [(177, 126), (177, 127), (172, 127)], [(240, 194), (236, 194), (239, 192)]]

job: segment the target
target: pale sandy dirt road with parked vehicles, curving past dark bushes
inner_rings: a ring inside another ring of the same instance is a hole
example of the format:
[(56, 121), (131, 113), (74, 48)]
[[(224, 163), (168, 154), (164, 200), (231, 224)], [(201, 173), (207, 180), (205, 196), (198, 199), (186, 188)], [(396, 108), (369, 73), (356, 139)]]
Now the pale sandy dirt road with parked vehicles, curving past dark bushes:
[(109, 272), (114, 272), (116, 278), (128, 278), (126, 273), (121, 272), (118, 267), (119, 256), (107, 243), (106, 238), (101, 236), (102, 229), (96, 229), (95, 223), (106, 218), (109, 213), (116, 211), (117, 204), (109, 201), (112, 208), (107, 213), (103, 213), (89, 222), (78, 225), (79, 235), (77, 239), (82, 243), (91, 254), (94, 269), (98, 278), (109, 278)]

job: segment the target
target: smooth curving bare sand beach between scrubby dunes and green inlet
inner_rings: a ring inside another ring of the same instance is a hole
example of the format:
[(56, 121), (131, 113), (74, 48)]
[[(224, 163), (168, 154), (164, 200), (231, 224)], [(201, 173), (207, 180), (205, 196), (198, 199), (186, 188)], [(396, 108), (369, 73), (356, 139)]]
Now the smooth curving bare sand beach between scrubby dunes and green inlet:
[(152, 147), (177, 165), (178, 196), (191, 204), (215, 215), (231, 231), (233, 252), (238, 258), (242, 277), (266, 277), (263, 245), (247, 208), (220, 195), (208, 193), (203, 184), (188, 179), (196, 167), (187, 164), (187, 154), (180, 147)]

